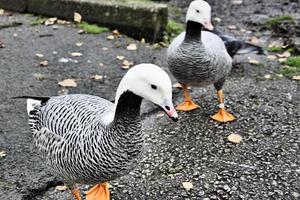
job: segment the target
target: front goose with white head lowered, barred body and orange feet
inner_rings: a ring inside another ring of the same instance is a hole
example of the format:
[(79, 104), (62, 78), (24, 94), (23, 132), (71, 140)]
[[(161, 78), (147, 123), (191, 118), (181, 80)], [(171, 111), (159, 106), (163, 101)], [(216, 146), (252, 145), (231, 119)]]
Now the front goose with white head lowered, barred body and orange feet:
[(143, 147), (142, 99), (158, 105), (174, 121), (171, 80), (153, 64), (132, 67), (121, 80), (115, 103), (92, 95), (27, 98), (35, 145), (50, 170), (63, 179), (76, 200), (77, 183), (96, 184), (87, 200), (109, 200), (108, 181), (128, 174)]

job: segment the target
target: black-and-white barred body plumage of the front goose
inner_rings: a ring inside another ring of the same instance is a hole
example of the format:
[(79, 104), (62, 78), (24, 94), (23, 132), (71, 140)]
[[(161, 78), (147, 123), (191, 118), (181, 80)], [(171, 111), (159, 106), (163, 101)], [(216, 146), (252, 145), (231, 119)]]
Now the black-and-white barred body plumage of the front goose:
[(122, 123), (106, 126), (101, 117), (113, 105), (96, 96), (65, 95), (52, 97), (31, 111), (35, 144), (50, 169), (65, 182), (104, 182), (128, 173), (137, 164), (143, 146), (140, 105), (134, 105), (135, 116), (123, 115)]

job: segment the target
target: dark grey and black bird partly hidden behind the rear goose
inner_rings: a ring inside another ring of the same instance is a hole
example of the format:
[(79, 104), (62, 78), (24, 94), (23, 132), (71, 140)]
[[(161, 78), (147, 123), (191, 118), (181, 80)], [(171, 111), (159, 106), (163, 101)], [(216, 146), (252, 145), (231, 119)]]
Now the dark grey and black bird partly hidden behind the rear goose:
[(231, 57), (236, 54), (247, 54), (251, 52), (264, 54), (264, 50), (260, 46), (239, 40), (216, 29), (214, 29), (212, 32), (218, 35), (223, 40), (226, 49)]

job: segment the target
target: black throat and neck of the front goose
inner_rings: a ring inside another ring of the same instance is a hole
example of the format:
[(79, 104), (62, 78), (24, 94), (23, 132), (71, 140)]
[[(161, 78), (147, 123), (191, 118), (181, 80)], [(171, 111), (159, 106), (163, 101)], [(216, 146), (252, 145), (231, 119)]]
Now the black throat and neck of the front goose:
[[(130, 91), (123, 92), (115, 105), (115, 115), (113, 124), (130, 125), (131, 123), (140, 122), (140, 107), (142, 98)], [(127, 124), (129, 123), (129, 124)]]

